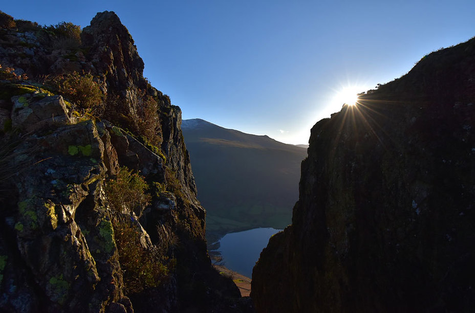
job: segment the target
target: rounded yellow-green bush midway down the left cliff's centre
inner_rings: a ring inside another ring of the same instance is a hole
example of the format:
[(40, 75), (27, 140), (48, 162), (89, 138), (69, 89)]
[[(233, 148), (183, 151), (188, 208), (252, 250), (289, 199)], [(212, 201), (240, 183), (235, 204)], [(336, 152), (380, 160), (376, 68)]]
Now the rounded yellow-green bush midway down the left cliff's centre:
[(151, 197), (145, 193), (147, 189), (142, 176), (121, 167), (117, 176), (105, 185), (107, 204), (114, 213), (139, 212), (150, 203)]

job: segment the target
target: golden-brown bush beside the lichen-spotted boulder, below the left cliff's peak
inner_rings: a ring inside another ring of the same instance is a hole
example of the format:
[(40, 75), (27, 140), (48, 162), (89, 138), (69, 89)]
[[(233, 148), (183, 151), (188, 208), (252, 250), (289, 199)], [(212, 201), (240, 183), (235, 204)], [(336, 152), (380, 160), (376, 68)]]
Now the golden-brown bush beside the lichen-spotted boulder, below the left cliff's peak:
[(87, 113), (101, 116), (104, 111), (103, 95), (91, 74), (73, 72), (59, 75), (47, 82), (65, 98), (83, 108)]

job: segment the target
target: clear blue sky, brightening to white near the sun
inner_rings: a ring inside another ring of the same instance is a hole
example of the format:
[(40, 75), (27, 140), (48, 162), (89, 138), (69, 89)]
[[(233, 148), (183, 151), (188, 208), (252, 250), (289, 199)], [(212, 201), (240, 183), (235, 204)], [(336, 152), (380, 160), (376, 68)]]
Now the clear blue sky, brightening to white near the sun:
[(370, 90), (475, 36), (473, 0), (24, 0), (0, 10), (81, 27), (114, 11), (144, 76), (183, 119), (291, 144), (308, 143), (310, 128), (341, 109), (343, 89)]

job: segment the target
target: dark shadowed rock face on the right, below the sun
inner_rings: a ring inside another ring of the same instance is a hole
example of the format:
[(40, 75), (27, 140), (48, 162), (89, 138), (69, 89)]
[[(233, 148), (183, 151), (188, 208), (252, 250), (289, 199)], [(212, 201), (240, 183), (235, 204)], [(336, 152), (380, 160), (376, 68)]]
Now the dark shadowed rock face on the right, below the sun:
[(315, 124), (292, 225), (254, 267), (256, 311), (472, 311), (474, 130), (475, 39)]

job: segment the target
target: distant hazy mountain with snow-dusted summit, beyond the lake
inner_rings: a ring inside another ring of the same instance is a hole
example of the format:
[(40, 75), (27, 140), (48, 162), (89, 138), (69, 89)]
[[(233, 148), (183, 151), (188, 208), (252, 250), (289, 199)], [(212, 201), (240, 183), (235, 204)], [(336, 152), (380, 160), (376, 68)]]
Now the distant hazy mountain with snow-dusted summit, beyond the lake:
[(182, 129), (207, 211), (208, 239), (290, 223), (306, 149), (201, 119), (184, 120)]

